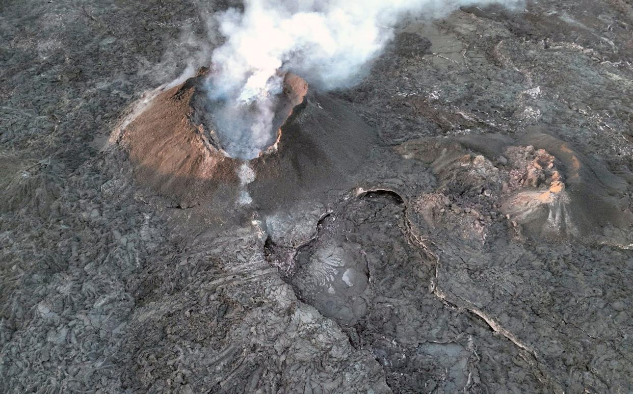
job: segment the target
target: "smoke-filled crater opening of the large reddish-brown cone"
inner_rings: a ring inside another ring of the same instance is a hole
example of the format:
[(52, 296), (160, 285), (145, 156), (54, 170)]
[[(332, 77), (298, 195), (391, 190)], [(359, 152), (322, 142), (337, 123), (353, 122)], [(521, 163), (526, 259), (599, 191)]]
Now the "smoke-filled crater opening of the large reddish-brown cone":
[(303, 102), (308, 83), (294, 73), (284, 75), (283, 89), (253, 101), (215, 99), (211, 86), (196, 89), (191, 120), (201, 125), (205, 144), (226, 156), (251, 160), (275, 151), (281, 127), (292, 108)]

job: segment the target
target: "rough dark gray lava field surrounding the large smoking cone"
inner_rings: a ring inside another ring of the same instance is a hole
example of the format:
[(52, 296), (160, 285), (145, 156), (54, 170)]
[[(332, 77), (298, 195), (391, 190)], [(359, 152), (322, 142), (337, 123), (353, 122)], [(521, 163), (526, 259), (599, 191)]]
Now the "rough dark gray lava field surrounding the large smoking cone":
[(176, 198), (122, 122), (233, 3), (0, 2), (1, 392), (633, 391), (630, 2), (405, 20)]

